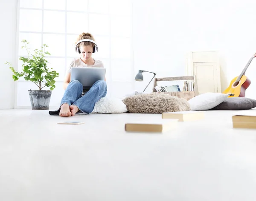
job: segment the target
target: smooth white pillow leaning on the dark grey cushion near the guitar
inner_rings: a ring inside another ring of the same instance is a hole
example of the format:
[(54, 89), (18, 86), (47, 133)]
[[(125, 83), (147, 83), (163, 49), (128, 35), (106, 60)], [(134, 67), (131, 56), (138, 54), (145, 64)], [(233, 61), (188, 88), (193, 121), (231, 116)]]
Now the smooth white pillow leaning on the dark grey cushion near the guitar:
[(188, 100), (191, 110), (210, 110), (221, 104), (229, 96), (225, 93), (202, 93)]

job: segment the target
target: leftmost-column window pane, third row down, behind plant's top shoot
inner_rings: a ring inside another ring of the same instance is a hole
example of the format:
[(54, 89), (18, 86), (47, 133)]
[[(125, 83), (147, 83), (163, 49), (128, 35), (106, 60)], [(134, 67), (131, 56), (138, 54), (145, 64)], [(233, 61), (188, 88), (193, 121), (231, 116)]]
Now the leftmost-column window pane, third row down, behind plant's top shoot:
[(24, 46), (22, 40), (27, 40), (29, 44), (27, 45), (30, 48), (30, 52), (32, 53), (35, 49), (40, 49), (42, 46), (42, 34), (30, 34), (30, 33), (20, 33), (19, 34), (19, 55), (27, 56), (26, 48), (21, 49)]

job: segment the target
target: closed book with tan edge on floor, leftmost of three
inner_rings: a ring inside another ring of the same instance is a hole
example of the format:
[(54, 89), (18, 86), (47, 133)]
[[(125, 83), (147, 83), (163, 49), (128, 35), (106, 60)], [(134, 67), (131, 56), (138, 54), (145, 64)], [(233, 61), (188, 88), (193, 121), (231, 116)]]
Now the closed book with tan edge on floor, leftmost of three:
[(177, 127), (177, 119), (160, 120), (160, 121), (136, 121), (125, 124), (125, 131), (131, 132), (149, 132), (163, 133), (174, 130)]

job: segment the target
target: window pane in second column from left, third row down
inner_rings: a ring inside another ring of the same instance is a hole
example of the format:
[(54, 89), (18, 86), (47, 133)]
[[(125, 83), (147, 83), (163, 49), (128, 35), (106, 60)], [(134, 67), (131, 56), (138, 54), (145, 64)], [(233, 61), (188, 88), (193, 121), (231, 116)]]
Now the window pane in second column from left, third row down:
[(46, 49), (51, 56), (65, 56), (65, 36), (61, 34), (44, 34), (43, 44), (48, 45)]

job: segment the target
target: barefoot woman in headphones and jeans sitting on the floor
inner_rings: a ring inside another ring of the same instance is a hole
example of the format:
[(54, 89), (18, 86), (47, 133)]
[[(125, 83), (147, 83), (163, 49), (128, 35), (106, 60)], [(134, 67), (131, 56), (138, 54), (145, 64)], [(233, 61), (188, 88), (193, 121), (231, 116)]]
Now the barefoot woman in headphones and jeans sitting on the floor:
[[(93, 40), (93, 42), (86, 40)], [(64, 79), (64, 95), (61, 99), (60, 108), (56, 111), (49, 111), (50, 115), (58, 115), (63, 117), (74, 116), (79, 113), (91, 113), (94, 106), (99, 99), (105, 97), (107, 94), (107, 84), (105, 80), (98, 80), (93, 84), (89, 91), (83, 91), (83, 85), (78, 80), (70, 82), (70, 74), (72, 67), (99, 67), (103, 68), (102, 61), (93, 59), (97, 46), (95, 45), (94, 37), (90, 33), (82, 33), (77, 39), (76, 50), (79, 52), (80, 57), (73, 59), (67, 68), (66, 76)], [(82, 96), (82, 93), (84, 95)]]

